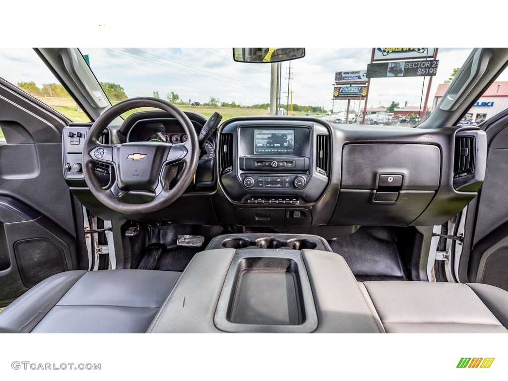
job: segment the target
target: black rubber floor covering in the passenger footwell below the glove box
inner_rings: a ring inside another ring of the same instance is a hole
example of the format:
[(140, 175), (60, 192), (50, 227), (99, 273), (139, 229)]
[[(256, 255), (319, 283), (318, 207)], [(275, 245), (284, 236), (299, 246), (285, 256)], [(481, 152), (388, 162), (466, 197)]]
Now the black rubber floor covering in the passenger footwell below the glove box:
[(345, 259), (358, 281), (407, 280), (395, 233), (389, 228), (362, 227), (328, 243)]

